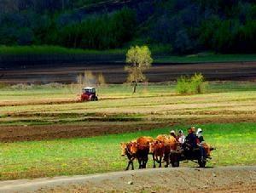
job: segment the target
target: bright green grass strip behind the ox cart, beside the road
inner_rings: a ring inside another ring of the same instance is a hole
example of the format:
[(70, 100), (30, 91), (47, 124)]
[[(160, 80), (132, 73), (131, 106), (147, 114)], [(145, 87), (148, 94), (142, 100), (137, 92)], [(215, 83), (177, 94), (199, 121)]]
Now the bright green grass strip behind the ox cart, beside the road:
[[(255, 165), (256, 123), (197, 125), (207, 142), (217, 148), (208, 166)], [(186, 127), (178, 126), (175, 129)], [(0, 143), (0, 179), (105, 173), (123, 170), (126, 160), (120, 156), (119, 143), (142, 135), (156, 137), (171, 128), (137, 133), (122, 133), (84, 139), (57, 139)], [(148, 167), (152, 167), (151, 157)], [(195, 165), (183, 163), (183, 166)], [(136, 165), (137, 167), (137, 165)]]

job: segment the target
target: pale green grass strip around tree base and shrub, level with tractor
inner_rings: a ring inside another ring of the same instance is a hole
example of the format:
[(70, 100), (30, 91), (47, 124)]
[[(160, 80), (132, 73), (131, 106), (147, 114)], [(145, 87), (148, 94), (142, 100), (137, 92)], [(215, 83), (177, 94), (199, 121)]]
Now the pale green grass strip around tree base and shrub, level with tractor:
[[(175, 93), (176, 82), (161, 83), (140, 83), (137, 86), (137, 94), (132, 94), (130, 84), (109, 84), (104, 87), (96, 87), (99, 97), (151, 97), (173, 95)], [(23, 89), (24, 88), (24, 89)], [(235, 91), (256, 91), (255, 82), (208, 82), (208, 93)], [(81, 91), (73, 84), (60, 84), (58, 88), (46, 85), (28, 85), (23, 87), (9, 86), (0, 88), (0, 99), (20, 100), (20, 99), (54, 99), (77, 97)]]

